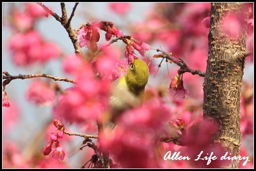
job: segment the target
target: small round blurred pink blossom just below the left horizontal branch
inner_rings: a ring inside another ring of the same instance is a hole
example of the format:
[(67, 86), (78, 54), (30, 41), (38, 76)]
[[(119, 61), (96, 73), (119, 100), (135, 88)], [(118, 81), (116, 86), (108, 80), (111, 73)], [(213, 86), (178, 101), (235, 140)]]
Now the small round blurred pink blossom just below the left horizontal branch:
[(50, 105), (55, 99), (54, 88), (47, 85), (42, 80), (34, 80), (28, 87), (27, 99), (36, 104)]

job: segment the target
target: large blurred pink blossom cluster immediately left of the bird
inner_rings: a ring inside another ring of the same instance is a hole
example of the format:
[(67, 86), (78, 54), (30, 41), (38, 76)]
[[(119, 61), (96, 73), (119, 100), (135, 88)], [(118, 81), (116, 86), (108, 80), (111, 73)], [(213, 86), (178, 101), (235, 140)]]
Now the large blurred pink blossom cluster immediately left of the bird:
[(70, 123), (97, 120), (108, 102), (111, 82), (99, 79), (92, 65), (75, 55), (65, 58), (63, 70), (74, 76), (76, 84), (59, 96), (53, 115)]

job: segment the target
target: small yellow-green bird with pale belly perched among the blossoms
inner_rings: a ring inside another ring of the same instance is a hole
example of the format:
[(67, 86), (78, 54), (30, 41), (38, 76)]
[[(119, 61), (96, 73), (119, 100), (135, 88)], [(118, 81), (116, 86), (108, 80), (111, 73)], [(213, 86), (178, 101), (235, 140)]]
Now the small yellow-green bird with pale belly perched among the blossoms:
[(139, 106), (144, 100), (145, 86), (149, 79), (148, 65), (140, 60), (134, 59), (125, 76), (117, 80), (109, 99), (110, 120), (115, 121), (116, 117), (126, 109)]

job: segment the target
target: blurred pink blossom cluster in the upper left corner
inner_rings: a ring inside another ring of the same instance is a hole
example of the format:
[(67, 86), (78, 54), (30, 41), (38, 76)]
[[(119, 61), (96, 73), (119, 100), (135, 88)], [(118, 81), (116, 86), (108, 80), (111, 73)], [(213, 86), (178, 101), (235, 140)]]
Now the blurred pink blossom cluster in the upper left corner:
[(26, 3), (24, 11), (16, 9), (12, 12), (10, 24), (15, 33), (10, 39), (9, 50), (16, 65), (44, 64), (60, 55), (59, 46), (44, 40), (34, 29), (36, 21), (47, 15), (35, 3)]

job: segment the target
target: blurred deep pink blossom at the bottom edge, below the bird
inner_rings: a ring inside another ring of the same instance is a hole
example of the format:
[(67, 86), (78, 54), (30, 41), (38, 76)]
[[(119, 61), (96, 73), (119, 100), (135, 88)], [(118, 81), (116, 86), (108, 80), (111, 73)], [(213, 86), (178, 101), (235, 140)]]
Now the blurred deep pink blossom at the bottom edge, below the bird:
[[(109, 151), (122, 168), (152, 167), (152, 141), (145, 134), (119, 128), (99, 137), (103, 151)], [(153, 166), (154, 167), (154, 166)]]

